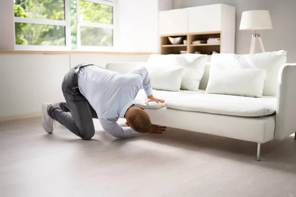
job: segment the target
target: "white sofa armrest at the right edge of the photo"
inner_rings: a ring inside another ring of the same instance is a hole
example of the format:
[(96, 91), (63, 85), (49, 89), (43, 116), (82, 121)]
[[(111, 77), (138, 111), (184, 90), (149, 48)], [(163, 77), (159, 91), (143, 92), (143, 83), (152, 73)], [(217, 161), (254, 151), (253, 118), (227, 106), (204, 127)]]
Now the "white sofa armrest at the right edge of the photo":
[(296, 64), (280, 68), (274, 139), (283, 139), (296, 132)]

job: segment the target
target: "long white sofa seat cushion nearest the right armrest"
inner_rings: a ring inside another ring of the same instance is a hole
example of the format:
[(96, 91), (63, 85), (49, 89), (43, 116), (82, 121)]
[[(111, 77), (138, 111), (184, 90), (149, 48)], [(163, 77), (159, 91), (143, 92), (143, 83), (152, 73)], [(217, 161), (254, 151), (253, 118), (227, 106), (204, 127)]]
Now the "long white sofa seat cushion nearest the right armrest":
[(276, 97), (250, 98), (231, 95), (199, 94), (171, 98), (165, 106), (185, 111), (198, 111), (243, 117), (263, 117), (276, 111)]

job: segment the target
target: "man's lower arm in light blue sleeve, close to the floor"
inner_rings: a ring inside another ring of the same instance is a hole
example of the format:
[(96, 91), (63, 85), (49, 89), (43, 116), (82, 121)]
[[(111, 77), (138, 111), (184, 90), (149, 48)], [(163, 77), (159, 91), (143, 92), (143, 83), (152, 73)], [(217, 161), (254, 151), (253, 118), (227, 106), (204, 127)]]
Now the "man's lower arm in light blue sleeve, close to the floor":
[[(114, 121), (114, 122), (113, 122)], [(130, 127), (120, 127), (116, 123), (117, 120), (104, 120), (100, 119), (100, 123), (105, 131), (117, 138), (128, 138), (139, 134)]]

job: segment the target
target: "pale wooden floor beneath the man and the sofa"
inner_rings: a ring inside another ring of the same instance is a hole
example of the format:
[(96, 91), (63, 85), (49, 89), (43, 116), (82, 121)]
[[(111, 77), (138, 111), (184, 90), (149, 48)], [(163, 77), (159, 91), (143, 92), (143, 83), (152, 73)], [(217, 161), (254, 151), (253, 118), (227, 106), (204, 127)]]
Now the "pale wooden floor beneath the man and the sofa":
[[(120, 120), (120, 123), (123, 123)], [(40, 118), (0, 123), (0, 197), (296, 197), (296, 140), (262, 145), (168, 129), (84, 141)]]

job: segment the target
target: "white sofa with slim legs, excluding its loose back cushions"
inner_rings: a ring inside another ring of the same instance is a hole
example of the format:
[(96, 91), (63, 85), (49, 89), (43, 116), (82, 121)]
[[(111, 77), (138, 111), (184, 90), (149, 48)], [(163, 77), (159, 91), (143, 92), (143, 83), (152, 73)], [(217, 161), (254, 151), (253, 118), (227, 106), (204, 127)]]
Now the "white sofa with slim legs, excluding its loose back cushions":
[[(109, 63), (106, 68), (124, 74), (146, 64)], [(146, 108), (152, 124), (256, 142), (257, 161), (262, 143), (296, 132), (296, 65), (280, 68), (277, 97), (262, 98), (204, 94), (209, 70), (207, 63), (198, 91), (153, 90), (155, 98), (166, 102), (146, 105), (141, 89), (136, 105)]]

